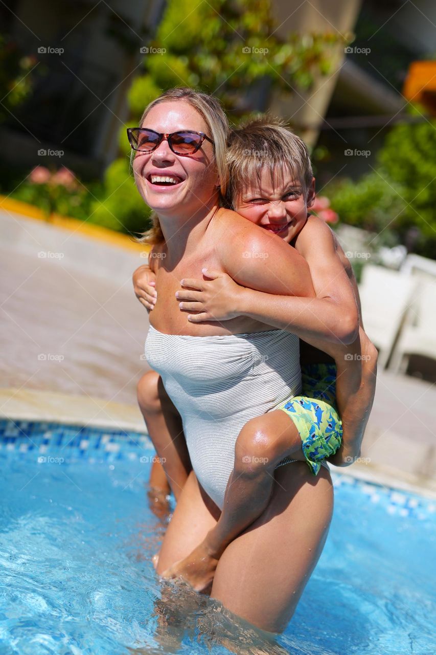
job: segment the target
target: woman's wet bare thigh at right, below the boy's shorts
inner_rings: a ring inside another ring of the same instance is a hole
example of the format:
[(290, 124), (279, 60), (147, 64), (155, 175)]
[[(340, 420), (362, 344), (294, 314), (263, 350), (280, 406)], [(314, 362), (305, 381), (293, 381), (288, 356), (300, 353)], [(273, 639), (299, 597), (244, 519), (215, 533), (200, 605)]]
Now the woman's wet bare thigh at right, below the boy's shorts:
[(211, 597), (257, 627), (282, 632), (321, 555), (333, 512), (333, 485), (304, 462), (275, 472), (266, 510), (227, 546)]

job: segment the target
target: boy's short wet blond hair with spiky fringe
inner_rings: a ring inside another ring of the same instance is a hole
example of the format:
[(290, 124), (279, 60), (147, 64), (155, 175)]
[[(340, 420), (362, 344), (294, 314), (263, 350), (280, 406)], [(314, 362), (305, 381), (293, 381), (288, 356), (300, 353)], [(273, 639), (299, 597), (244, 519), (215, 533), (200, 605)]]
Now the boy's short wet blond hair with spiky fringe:
[(302, 184), (308, 193), (313, 172), (306, 144), (291, 132), (285, 122), (263, 116), (232, 130), (227, 147), (228, 185), (226, 205), (234, 207), (236, 200), (257, 179), (265, 168), (271, 181), (283, 182), (285, 171)]

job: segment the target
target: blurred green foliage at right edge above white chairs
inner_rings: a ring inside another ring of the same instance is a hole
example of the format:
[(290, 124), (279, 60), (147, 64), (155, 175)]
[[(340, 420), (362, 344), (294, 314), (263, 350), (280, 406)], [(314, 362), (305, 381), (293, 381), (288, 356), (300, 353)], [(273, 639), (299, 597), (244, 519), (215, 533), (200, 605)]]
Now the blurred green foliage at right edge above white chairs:
[(379, 233), (381, 243), (405, 242), (417, 228), (416, 252), (435, 259), (436, 121), (397, 124), (373, 171), (326, 193), (342, 221)]

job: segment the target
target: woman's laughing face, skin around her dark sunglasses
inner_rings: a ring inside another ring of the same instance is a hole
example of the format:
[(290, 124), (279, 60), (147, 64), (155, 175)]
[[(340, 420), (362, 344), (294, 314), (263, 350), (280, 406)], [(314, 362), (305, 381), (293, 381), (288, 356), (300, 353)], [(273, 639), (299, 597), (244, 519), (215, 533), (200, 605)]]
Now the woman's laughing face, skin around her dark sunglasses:
[[(204, 132), (213, 139), (202, 116), (183, 100), (155, 105), (141, 127), (162, 134)], [(139, 193), (158, 215), (192, 214), (200, 206), (209, 206), (211, 198), (217, 196), (213, 145), (207, 140), (193, 155), (175, 155), (168, 141), (162, 140), (152, 153), (135, 152), (133, 170)]]

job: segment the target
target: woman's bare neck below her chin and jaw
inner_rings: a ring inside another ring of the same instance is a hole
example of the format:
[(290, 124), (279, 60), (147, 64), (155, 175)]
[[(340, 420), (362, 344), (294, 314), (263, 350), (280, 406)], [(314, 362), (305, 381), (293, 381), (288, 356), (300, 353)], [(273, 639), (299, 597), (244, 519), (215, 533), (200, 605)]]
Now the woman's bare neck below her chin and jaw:
[(179, 261), (196, 251), (218, 210), (219, 204), (215, 202), (210, 208), (202, 207), (185, 220), (179, 216), (158, 215), (170, 261)]

